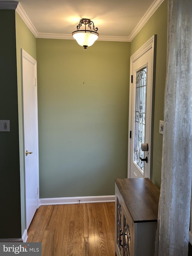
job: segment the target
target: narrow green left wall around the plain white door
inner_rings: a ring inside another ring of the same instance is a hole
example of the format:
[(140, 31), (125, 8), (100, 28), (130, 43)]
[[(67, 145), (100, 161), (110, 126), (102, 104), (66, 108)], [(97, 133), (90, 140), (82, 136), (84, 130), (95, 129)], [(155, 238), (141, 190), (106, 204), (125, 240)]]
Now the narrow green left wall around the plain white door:
[(22, 122), (22, 87), (21, 87), (21, 48), (36, 59), (36, 38), (15, 13), (16, 22), (16, 56), (17, 56), (17, 87), (19, 111), (19, 155), (20, 155), (20, 184), (21, 184), (21, 229), (25, 230), (25, 184), (24, 184), (24, 148), (23, 148), (23, 122)]

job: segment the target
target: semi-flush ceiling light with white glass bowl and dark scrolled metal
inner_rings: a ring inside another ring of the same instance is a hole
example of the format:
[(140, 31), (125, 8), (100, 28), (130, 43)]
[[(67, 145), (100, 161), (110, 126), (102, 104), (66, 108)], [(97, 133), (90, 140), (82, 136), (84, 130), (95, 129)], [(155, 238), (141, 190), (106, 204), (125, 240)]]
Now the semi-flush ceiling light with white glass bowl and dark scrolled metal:
[[(81, 29), (81, 26), (84, 25), (85, 29)], [(91, 25), (93, 29), (91, 30)], [(88, 26), (88, 30), (86, 29)], [(72, 33), (73, 38), (77, 43), (87, 49), (88, 46), (91, 46), (97, 39), (99, 34), (97, 33), (98, 28), (95, 28), (94, 23), (89, 19), (81, 19), (77, 25), (77, 30)]]

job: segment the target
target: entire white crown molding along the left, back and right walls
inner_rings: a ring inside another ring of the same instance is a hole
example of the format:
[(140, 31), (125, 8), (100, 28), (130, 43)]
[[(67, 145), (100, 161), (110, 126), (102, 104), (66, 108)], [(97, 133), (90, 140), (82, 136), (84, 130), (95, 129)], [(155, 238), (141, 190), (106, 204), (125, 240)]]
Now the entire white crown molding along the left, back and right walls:
[[(131, 42), (133, 38), (137, 35), (140, 29), (145, 25), (145, 23), (149, 20), (149, 18), (154, 14), (154, 12), (158, 9), (161, 3), (164, 0), (155, 0), (152, 5), (147, 10), (146, 14), (140, 20), (140, 22), (135, 27), (134, 31), (131, 33), (129, 37), (116, 37), (116, 36), (99, 36), (98, 41), (119, 41), (119, 42)], [(20, 4), (17, 5), (16, 11), (21, 16), (22, 20), (26, 23), (28, 28), (31, 30), (33, 35), (36, 38), (50, 38), (50, 39), (73, 39), (71, 34), (52, 34), (52, 33), (39, 33), (33, 26), (32, 22), (29, 20), (27, 14), (23, 10)]]

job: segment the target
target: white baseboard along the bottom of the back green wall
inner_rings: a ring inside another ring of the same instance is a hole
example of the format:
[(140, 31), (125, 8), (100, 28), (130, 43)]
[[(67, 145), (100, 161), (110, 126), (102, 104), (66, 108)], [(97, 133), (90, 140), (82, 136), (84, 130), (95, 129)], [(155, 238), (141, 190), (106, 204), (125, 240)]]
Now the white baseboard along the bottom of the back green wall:
[(115, 195), (90, 196), (90, 197), (40, 198), (40, 205), (74, 204), (74, 203), (104, 203), (104, 202), (105, 203), (115, 202)]

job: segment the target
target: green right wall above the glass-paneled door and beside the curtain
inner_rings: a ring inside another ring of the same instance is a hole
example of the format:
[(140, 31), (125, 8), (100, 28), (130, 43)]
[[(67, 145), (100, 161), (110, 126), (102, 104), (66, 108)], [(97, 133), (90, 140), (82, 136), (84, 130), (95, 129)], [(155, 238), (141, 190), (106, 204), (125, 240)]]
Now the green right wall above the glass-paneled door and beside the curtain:
[(131, 55), (155, 34), (157, 34), (157, 59), (155, 75), (152, 181), (158, 188), (160, 188), (163, 136), (159, 134), (159, 121), (164, 120), (164, 89), (167, 56), (167, 0), (160, 5), (157, 11), (155, 11), (152, 17), (131, 41)]

